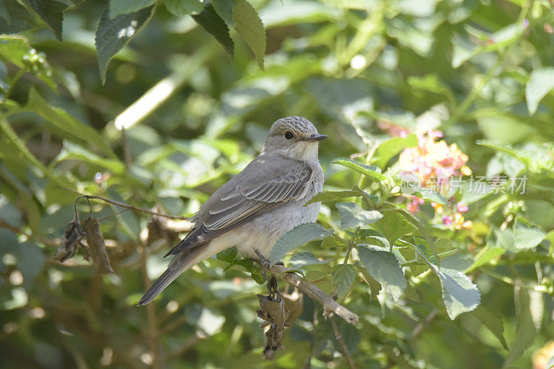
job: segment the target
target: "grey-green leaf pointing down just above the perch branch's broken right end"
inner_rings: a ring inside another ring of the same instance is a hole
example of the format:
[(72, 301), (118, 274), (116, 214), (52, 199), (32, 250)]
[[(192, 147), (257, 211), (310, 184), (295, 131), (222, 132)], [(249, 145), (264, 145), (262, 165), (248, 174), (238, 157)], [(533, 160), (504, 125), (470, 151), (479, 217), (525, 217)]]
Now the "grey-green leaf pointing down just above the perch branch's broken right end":
[(358, 246), (357, 249), (359, 261), (366, 271), (381, 284), (384, 293), (398, 302), (406, 289), (406, 278), (395, 255), (363, 246)]

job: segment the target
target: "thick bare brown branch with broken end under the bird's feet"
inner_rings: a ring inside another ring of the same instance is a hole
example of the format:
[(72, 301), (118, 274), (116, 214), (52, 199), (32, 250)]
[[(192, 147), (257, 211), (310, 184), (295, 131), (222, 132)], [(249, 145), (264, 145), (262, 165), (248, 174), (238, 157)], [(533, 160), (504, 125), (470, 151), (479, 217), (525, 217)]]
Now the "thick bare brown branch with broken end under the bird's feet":
[(325, 292), (321, 291), (321, 289), (315, 287), (312, 283), (298, 276), (296, 273), (287, 273), (290, 269), (283, 267), (282, 265), (275, 264), (269, 267), (269, 271), (271, 271), (276, 278), (300, 289), (313, 300), (319, 301), (323, 307), (331, 310), (334, 314), (337, 314), (343, 318), (347, 323), (352, 325), (356, 325), (356, 323), (358, 323), (359, 316), (353, 312), (350, 312), (350, 310), (337, 303), (337, 301), (335, 301), (331, 296), (325, 294)]

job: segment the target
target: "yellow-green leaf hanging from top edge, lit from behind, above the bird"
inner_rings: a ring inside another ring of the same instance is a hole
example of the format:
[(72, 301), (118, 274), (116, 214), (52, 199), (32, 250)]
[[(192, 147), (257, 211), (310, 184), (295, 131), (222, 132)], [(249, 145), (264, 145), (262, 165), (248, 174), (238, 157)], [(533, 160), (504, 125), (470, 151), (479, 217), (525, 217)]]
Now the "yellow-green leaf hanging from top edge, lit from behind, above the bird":
[(248, 1), (236, 0), (233, 8), (233, 21), (235, 21), (235, 29), (256, 55), (258, 66), (263, 70), (266, 47), (265, 29), (258, 12)]

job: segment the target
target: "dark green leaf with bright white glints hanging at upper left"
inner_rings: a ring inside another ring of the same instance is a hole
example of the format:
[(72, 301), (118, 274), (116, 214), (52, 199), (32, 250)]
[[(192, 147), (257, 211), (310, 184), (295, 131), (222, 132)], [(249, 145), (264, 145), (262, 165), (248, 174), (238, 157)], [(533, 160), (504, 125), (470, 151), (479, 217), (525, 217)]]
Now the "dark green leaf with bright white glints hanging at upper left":
[(111, 57), (116, 55), (131, 39), (139, 33), (154, 15), (156, 6), (144, 8), (138, 12), (118, 15), (114, 19), (109, 17), (109, 8), (106, 8), (98, 28), (96, 28), (96, 55), (102, 84), (106, 82), (106, 70)]

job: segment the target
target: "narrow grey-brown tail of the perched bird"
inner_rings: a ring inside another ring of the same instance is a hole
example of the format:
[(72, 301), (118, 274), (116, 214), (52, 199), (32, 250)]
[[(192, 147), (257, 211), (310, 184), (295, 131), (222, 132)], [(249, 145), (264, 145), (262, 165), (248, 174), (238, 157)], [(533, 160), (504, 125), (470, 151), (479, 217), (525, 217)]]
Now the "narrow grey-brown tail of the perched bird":
[(163, 289), (175, 280), (181, 273), (193, 267), (202, 258), (202, 247), (195, 248), (190, 252), (183, 252), (176, 255), (168, 265), (168, 269), (152, 284), (150, 289), (146, 291), (136, 306), (146, 305), (154, 300)]

